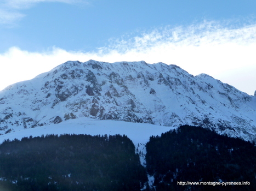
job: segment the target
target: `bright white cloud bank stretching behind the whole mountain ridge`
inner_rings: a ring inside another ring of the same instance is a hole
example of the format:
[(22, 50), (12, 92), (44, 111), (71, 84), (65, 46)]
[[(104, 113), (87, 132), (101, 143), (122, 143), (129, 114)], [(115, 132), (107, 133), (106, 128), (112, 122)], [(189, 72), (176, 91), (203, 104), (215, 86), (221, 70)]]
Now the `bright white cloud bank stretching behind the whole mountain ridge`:
[(204, 21), (197, 25), (162, 27), (110, 39), (93, 52), (71, 52), (52, 47), (27, 52), (11, 47), (0, 55), (0, 80), (4, 88), (29, 80), (68, 60), (81, 62), (141, 61), (176, 64), (193, 75), (206, 73), (248, 94), (256, 90), (256, 24), (240, 27)]

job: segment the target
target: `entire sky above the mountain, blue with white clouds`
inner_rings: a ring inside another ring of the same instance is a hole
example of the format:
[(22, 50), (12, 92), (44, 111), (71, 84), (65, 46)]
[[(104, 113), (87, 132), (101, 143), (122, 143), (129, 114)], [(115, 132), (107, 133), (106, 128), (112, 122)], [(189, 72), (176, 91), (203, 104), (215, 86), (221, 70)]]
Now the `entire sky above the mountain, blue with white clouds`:
[(254, 94), (255, 1), (2, 0), (0, 89), (67, 60), (177, 64)]

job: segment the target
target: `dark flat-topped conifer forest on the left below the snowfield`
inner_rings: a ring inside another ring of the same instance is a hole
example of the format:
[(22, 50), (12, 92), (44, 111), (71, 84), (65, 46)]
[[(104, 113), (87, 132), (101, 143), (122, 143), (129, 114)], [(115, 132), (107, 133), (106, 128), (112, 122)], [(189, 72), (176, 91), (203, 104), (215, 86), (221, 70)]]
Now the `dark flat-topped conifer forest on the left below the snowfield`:
[(126, 135), (30, 137), (0, 153), (1, 190), (140, 190), (147, 181)]

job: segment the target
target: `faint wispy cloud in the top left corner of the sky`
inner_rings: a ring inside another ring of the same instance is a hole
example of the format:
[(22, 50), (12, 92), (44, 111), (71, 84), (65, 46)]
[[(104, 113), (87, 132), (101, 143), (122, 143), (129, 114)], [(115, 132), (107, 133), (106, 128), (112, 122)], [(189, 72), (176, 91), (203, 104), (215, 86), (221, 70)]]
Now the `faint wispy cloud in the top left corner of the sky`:
[(59, 3), (83, 3), (83, 0), (2, 0), (0, 2), (0, 24), (15, 25), (15, 22), (22, 19), (25, 14), (21, 13), (22, 9), (29, 9), (36, 3), (40, 2), (59, 2)]

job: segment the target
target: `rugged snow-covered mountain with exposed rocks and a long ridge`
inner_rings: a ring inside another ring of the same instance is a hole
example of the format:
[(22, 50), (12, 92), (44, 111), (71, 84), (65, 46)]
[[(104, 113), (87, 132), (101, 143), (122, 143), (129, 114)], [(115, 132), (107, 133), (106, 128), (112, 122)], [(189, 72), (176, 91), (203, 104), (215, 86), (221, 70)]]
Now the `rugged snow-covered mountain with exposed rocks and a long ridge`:
[(82, 117), (189, 124), (256, 140), (256, 97), (177, 65), (69, 61), (0, 92), (1, 134)]

